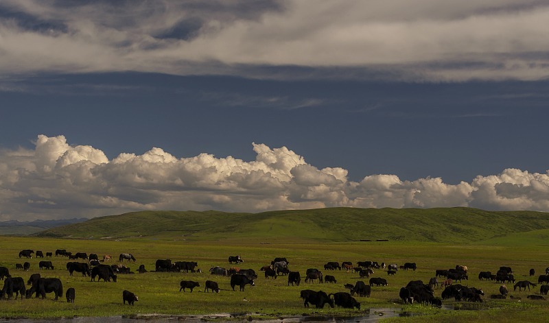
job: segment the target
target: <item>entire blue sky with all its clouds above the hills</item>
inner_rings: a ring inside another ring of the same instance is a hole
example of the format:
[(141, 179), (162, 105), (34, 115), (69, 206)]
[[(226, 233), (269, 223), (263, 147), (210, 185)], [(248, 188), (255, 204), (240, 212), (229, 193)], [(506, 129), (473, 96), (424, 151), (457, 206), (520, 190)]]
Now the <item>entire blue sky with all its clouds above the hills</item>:
[(549, 212), (549, 2), (0, 1), (0, 221)]

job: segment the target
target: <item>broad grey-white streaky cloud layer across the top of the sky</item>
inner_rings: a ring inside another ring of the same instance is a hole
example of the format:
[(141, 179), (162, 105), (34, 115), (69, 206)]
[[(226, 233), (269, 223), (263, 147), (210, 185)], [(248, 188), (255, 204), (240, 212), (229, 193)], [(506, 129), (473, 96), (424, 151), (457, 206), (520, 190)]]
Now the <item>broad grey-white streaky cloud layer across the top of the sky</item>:
[(261, 67), (436, 81), (549, 75), (549, 4), (539, 0), (5, 0), (0, 17), (5, 75), (299, 73)]

